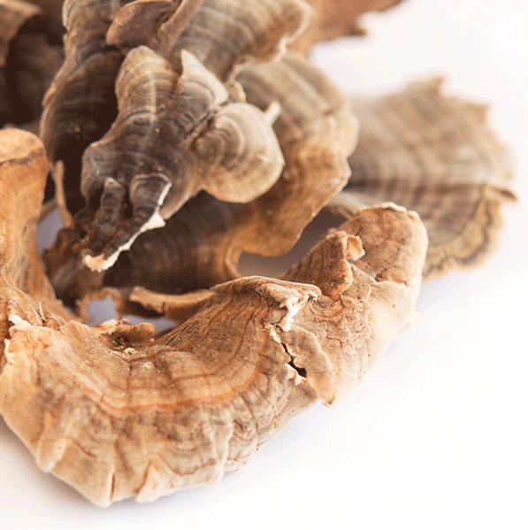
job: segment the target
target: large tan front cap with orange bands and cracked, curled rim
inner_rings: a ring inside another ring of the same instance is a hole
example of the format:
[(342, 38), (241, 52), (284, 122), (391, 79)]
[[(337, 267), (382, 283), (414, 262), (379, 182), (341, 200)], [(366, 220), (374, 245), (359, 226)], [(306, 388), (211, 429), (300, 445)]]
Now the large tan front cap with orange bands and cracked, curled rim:
[[(19, 217), (41, 198), (26, 198)], [(318, 397), (338, 403), (363, 378), (409, 317), (425, 247), (416, 214), (361, 211), (284, 280), (183, 296), (187, 319), (157, 337), (149, 324), (90, 328), (43, 313), (48, 294), (24, 293), (1, 269), (0, 412), (43, 470), (98, 504), (214, 482)], [(7, 262), (20, 253), (2, 250)], [(179, 299), (165, 300), (174, 315)]]

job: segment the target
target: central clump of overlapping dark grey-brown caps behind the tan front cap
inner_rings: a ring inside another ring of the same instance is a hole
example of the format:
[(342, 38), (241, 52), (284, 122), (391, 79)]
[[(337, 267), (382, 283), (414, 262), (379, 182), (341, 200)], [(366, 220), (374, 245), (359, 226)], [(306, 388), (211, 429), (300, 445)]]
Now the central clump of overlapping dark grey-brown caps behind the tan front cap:
[[(90, 32), (99, 28), (90, 36), (80, 4), (65, 4), (66, 60), (41, 128), (51, 162), (65, 164), (57, 179), (69, 210), (63, 217), (73, 214), (46, 257), (59, 296), (74, 306), (104, 285), (210, 287), (238, 276), (243, 251), (286, 252), (346, 184), (357, 138), (339, 91), (306, 58), (285, 52), (310, 6), (103, 3), (89, 15)], [(149, 20), (141, 35), (133, 31), (138, 17)], [(126, 54), (119, 74), (112, 70), (118, 49)], [(111, 63), (103, 77), (88, 68), (100, 61)], [(101, 109), (111, 104), (114, 77), (117, 118), (92, 142), (96, 134), (83, 116), (93, 119), (94, 97)], [(79, 188), (82, 208), (74, 204)], [(163, 259), (153, 266), (155, 247)]]

